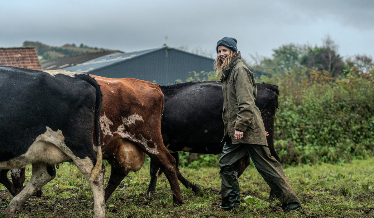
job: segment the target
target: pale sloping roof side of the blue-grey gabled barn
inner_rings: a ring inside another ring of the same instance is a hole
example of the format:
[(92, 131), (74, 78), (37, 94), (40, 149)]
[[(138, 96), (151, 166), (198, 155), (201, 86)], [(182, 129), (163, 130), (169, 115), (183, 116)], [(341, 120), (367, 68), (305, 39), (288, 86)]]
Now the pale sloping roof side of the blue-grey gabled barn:
[(144, 55), (146, 53), (154, 52), (163, 48), (157, 49), (148, 49), (138, 52), (129, 52), (129, 53), (118, 53), (101, 56), (99, 58), (92, 59), (91, 61), (86, 61), (81, 64), (77, 64), (71, 67), (63, 68), (64, 70), (75, 72), (75, 73), (88, 73), (91, 70), (97, 70), (108, 65), (117, 64), (129, 59), (134, 59), (137, 56)]

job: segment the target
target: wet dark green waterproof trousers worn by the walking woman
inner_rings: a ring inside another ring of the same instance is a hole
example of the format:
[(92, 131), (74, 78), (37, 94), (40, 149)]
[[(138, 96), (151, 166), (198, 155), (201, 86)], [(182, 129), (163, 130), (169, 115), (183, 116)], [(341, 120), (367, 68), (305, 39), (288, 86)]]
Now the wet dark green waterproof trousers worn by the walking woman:
[(240, 206), (236, 165), (247, 153), (249, 153), (257, 171), (282, 203), (283, 210), (295, 211), (301, 208), (301, 203), (289, 184), (282, 165), (270, 155), (269, 147), (255, 144), (232, 144), (231, 138), (226, 140), (219, 161), (222, 179), (221, 208), (231, 210)]

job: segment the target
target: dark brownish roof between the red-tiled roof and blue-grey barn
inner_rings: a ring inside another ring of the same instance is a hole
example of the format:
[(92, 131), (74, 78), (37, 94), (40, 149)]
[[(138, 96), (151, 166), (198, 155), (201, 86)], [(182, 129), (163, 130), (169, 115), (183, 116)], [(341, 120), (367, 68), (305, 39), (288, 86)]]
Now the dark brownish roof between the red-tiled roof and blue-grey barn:
[(86, 53), (81, 55), (70, 55), (60, 58), (53, 58), (42, 63), (44, 70), (58, 70), (65, 67), (70, 67), (76, 64), (80, 64), (86, 61), (90, 61), (94, 58), (99, 58), (104, 55), (114, 54), (114, 53), (123, 53), (120, 51), (106, 51), (106, 52), (95, 52), (95, 53)]

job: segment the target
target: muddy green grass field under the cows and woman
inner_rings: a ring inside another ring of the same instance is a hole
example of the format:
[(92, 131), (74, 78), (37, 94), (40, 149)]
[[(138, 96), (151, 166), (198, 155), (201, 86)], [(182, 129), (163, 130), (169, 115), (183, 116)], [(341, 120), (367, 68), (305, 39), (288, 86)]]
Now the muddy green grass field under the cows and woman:
[[(219, 208), (221, 187), (219, 168), (184, 169), (190, 181), (203, 187), (199, 194), (181, 185), (186, 204), (174, 207), (170, 185), (164, 175), (157, 182), (156, 193), (148, 195), (149, 166), (130, 173), (106, 203), (106, 217), (374, 217), (374, 159), (355, 160), (342, 165), (293, 166), (285, 169), (305, 212), (283, 213), (278, 200), (269, 201), (270, 188), (251, 166), (239, 179), (242, 205), (240, 211)], [(26, 167), (27, 181), (31, 166)], [(106, 178), (109, 178), (110, 167)], [(0, 185), (0, 211), (12, 196)], [(246, 199), (246, 200), (244, 200)], [(92, 217), (92, 193), (88, 182), (75, 165), (64, 163), (57, 176), (43, 187), (43, 197), (32, 197), (18, 212), (18, 218)], [(4, 214), (0, 212), (0, 218)]]

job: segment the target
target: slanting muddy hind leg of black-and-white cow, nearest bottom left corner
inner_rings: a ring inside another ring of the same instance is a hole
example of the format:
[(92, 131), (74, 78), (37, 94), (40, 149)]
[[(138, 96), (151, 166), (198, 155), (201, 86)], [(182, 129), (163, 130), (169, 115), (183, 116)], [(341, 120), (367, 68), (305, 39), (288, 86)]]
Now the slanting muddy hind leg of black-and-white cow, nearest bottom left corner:
[(56, 176), (56, 170), (54, 165), (49, 165), (43, 162), (33, 163), (33, 173), (30, 181), (26, 187), (17, 194), (12, 201), (9, 203), (8, 208), (4, 211), (6, 218), (14, 217), (16, 211), (22, 208), (22, 205), (26, 202), (31, 195), (47, 182), (51, 181)]

